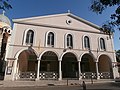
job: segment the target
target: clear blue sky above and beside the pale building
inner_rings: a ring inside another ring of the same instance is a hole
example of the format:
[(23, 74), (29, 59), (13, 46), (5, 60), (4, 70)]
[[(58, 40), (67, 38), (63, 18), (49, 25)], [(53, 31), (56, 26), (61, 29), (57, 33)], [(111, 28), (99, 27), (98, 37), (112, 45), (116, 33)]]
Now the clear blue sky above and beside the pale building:
[[(44, 16), (51, 14), (66, 13), (68, 10), (76, 16), (88, 20), (98, 26), (102, 26), (110, 20), (110, 14), (114, 13), (115, 7), (108, 8), (101, 15), (90, 11), (92, 0), (10, 0), (13, 9), (7, 10), (5, 15), (10, 19)], [(0, 11), (2, 13), (2, 11)], [(120, 49), (120, 32), (114, 34), (114, 48)]]

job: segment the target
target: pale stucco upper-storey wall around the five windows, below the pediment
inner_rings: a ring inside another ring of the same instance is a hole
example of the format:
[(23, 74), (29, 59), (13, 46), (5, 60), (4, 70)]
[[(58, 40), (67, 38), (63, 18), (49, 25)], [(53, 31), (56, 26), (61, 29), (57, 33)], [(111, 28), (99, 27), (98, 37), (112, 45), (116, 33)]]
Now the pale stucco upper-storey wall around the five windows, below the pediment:
[[(15, 54), (20, 51), (22, 48), (28, 48), (25, 44), (24, 34), (28, 29), (34, 30), (34, 42), (33, 48), (37, 50), (37, 48), (46, 48), (46, 34), (47, 32), (53, 32), (55, 34), (55, 46), (52, 49), (65, 48), (65, 35), (72, 34), (73, 35), (73, 50), (85, 50), (83, 45), (83, 37), (88, 36), (90, 38), (90, 47), (91, 50), (97, 51), (100, 50), (99, 39), (102, 37), (105, 40), (106, 51), (113, 52), (113, 42), (112, 38), (110, 39), (108, 35), (98, 34), (98, 33), (90, 33), (90, 32), (82, 32), (75, 30), (67, 30), (67, 29), (59, 29), (59, 28), (51, 28), (51, 27), (42, 27), (42, 26), (33, 26), (33, 25), (24, 25), (24, 24), (15, 24), (13, 33), (15, 33), (14, 42), (11, 42), (10, 51), (12, 55), (8, 55), (8, 57), (14, 57)], [(87, 29), (87, 28), (86, 28)], [(16, 38), (15, 38), (16, 37)], [(14, 45), (14, 48), (13, 48)], [(47, 48), (48, 49), (48, 48)], [(50, 48), (51, 49), (51, 48)], [(44, 49), (45, 50), (45, 49)], [(58, 51), (58, 50), (57, 50)], [(40, 52), (40, 51), (39, 51)], [(38, 53), (39, 53), (38, 52)]]

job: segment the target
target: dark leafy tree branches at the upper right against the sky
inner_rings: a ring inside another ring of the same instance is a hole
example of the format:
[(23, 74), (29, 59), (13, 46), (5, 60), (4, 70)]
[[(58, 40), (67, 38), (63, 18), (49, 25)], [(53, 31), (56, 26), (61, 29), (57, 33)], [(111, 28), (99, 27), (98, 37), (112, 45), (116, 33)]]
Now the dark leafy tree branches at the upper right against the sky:
[(115, 27), (117, 26), (120, 30), (120, 0), (93, 0), (90, 9), (97, 13), (102, 14), (102, 12), (108, 7), (114, 7), (115, 12), (111, 14), (111, 20), (105, 23), (102, 28), (114, 32)]

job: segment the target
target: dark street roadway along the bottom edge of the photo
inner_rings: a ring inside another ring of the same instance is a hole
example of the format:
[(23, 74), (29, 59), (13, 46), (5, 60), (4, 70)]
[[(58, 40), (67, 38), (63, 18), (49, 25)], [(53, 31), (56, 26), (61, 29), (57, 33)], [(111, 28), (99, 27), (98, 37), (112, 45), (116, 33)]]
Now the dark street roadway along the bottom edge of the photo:
[[(86, 90), (120, 90), (120, 83), (93, 83), (86, 84)], [(24, 86), (24, 87), (0, 87), (0, 90), (83, 90), (80, 85), (48, 85), (48, 86)]]

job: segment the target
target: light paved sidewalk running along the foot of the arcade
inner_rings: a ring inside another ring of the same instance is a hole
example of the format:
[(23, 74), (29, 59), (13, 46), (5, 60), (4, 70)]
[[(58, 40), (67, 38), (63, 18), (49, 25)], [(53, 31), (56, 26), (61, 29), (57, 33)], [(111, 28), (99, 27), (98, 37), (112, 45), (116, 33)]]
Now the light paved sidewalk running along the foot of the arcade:
[[(83, 80), (38, 80), (38, 81), (0, 81), (0, 87), (26, 87), (26, 86), (81, 86)], [(84, 80), (86, 84), (110, 83), (113, 80)]]

